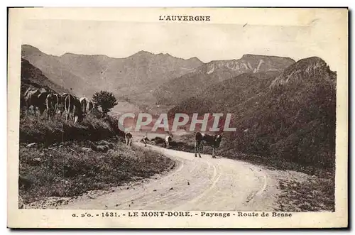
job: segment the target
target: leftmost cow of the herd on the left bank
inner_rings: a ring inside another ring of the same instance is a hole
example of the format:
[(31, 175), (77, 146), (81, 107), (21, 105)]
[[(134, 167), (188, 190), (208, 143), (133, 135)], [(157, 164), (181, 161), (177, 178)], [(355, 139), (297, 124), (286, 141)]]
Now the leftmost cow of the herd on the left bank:
[(45, 99), (47, 98), (48, 94), (49, 92), (47, 92), (45, 89), (36, 89), (33, 87), (28, 88), (24, 94), (27, 113), (30, 107), (33, 106), (34, 114), (36, 108), (38, 108), (40, 115), (42, 115), (46, 108)]

